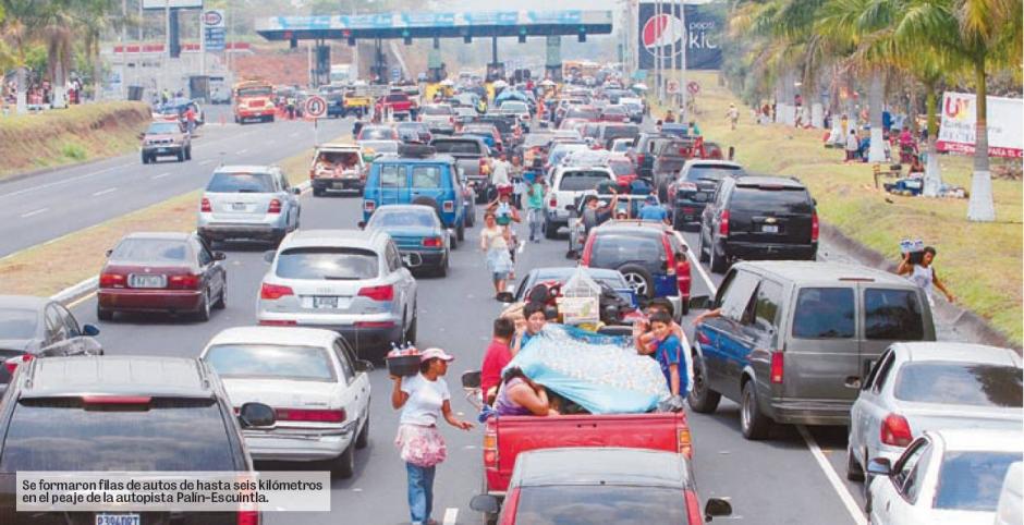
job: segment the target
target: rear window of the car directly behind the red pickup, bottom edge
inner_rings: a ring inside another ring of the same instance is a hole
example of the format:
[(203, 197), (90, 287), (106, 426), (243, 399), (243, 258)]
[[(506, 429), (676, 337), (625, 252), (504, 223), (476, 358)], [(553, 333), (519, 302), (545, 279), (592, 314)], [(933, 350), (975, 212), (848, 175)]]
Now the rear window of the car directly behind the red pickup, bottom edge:
[(538, 525), (692, 524), (682, 489), (614, 485), (523, 487), (515, 521)]

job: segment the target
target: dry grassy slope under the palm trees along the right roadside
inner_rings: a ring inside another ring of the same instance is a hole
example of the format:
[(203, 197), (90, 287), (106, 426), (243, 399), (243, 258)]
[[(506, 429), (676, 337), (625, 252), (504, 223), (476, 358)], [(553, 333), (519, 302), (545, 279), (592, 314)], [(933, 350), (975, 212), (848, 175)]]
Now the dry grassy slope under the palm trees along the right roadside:
[[(936, 271), (956, 302), (986, 318), (1021, 345), (1022, 239), (1021, 181), (995, 180), (997, 222), (967, 221), (967, 199), (902, 197), (875, 190), (869, 163), (845, 164), (841, 149), (822, 146), (824, 130), (757, 125), (749, 108), (726, 87), (716, 72), (690, 72), (700, 84), (697, 123), (723, 149), (735, 146), (735, 159), (755, 173), (795, 175), (810, 187), (821, 220), (875, 249), (893, 264), (903, 239), (922, 239), (938, 251)], [(729, 103), (741, 109), (740, 124), (729, 129)], [(653, 109), (660, 115), (660, 109)], [(993, 160), (993, 163), (1002, 160)], [(972, 159), (941, 156), (944, 182), (970, 191)]]

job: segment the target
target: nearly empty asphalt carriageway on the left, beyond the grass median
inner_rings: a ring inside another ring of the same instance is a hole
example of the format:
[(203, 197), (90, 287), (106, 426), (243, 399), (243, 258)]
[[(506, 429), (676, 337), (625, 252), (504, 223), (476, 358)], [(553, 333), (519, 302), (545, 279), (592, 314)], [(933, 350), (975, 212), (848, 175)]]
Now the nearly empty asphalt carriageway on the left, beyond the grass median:
[[(0, 257), (203, 187), (221, 163), (273, 163), (314, 144), (306, 121), (237, 125), (228, 106), (208, 108), (207, 121), (191, 161), (166, 157), (143, 164), (135, 151), (0, 182)], [(324, 141), (350, 132), (352, 120), (318, 125)]]

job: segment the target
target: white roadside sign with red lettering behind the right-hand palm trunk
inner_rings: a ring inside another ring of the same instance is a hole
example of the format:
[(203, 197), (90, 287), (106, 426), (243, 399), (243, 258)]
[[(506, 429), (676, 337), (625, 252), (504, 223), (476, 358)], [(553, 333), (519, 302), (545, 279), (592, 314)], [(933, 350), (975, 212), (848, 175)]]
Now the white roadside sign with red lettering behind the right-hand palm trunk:
[[(1024, 100), (987, 97), (988, 155), (1024, 157)], [(936, 146), (940, 151), (973, 154), (977, 124), (974, 95), (947, 91), (942, 96), (942, 123)]]

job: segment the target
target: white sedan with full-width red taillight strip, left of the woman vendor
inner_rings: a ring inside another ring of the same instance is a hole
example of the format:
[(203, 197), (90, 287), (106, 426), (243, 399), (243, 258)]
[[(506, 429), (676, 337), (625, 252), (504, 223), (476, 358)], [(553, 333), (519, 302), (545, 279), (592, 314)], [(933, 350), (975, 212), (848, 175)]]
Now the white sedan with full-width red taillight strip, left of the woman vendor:
[(233, 406), (259, 401), (273, 410), (273, 427), (242, 430), (253, 460), (322, 461), (352, 477), (355, 449), (369, 444), (374, 367), (344, 338), (315, 328), (229, 328), (199, 359), (220, 377)]

